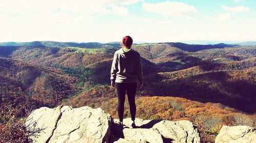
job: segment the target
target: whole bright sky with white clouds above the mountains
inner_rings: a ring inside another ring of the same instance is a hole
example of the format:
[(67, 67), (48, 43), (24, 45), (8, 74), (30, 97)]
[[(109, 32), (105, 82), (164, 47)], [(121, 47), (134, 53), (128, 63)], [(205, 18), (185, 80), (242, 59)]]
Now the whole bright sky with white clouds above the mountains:
[(0, 0), (0, 42), (256, 41), (255, 0)]

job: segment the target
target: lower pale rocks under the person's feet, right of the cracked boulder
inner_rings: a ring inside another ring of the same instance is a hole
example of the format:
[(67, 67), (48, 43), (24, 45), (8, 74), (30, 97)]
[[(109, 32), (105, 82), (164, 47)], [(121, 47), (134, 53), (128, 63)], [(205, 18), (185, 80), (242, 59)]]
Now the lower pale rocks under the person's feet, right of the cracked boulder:
[(119, 129), (114, 119), (111, 142), (201, 142), (197, 128), (189, 121), (136, 119), (136, 128), (131, 128), (130, 123), (131, 118), (124, 119), (124, 128)]

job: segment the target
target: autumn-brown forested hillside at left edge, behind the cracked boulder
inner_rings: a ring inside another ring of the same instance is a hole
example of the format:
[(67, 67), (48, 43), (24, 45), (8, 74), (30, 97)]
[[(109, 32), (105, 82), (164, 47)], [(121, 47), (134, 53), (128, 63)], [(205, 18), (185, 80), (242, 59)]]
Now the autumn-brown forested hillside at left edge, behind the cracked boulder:
[(76, 77), (22, 61), (0, 58), (0, 105), (55, 106), (74, 94)]

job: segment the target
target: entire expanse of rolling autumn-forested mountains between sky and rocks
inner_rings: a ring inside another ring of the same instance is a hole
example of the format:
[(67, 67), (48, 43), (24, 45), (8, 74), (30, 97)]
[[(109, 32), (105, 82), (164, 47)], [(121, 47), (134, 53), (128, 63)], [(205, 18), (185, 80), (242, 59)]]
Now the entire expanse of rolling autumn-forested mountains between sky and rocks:
[[(118, 42), (0, 45), (1, 109), (91, 106), (117, 118), (110, 68)], [(144, 43), (132, 48), (142, 57), (145, 79), (137, 90), (139, 118), (189, 120), (202, 127), (208, 142), (222, 125), (255, 127), (256, 46)], [(127, 102), (125, 108), (127, 118)]]

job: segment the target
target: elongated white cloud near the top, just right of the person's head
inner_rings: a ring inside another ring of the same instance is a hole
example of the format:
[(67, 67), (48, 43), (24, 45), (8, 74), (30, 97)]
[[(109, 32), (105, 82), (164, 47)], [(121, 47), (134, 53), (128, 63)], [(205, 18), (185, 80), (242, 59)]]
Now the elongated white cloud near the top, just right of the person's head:
[(157, 4), (143, 3), (142, 7), (149, 12), (173, 16), (188, 16), (198, 12), (194, 6), (189, 6), (180, 2), (169, 1)]

